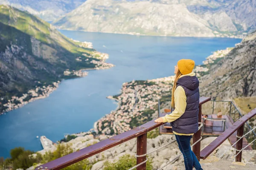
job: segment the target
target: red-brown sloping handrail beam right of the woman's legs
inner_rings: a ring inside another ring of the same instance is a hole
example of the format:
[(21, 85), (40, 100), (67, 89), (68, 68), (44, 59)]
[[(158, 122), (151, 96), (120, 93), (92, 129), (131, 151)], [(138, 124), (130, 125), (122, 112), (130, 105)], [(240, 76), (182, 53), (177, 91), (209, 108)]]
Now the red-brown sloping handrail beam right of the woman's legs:
[(250, 111), (248, 114), (241, 117), (236, 121), (231, 127), (225, 130), (220, 136), (218, 136), (214, 141), (212, 141), (207, 147), (201, 151), (201, 159), (206, 159), (217, 147), (219, 147), (225, 140), (227, 140), (236, 130), (244, 125), (249, 119), (256, 116), (256, 108)]

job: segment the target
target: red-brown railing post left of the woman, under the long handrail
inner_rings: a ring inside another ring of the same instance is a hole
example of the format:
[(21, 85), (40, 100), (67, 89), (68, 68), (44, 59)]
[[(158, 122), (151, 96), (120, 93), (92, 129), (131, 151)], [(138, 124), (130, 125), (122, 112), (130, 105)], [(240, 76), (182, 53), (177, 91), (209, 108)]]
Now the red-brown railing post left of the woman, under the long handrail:
[[(147, 133), (137, 137), (137, 155), (147, 153)], [(147, 156), (137, 157), (137, 164), (146, 160)], [(137, 170), (146, 170), (146, 163), (137, 167)]]

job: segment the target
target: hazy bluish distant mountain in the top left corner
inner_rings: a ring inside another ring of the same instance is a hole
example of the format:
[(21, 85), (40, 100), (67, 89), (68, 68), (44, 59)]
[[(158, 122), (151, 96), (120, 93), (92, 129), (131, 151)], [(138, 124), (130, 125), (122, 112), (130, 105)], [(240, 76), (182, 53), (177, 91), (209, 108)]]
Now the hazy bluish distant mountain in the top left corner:
[(28, 11), (46, 21), (54, 21), (58, 17), (72, 11), (86, 0), (0, 0), (0, 4), (13, 6)]

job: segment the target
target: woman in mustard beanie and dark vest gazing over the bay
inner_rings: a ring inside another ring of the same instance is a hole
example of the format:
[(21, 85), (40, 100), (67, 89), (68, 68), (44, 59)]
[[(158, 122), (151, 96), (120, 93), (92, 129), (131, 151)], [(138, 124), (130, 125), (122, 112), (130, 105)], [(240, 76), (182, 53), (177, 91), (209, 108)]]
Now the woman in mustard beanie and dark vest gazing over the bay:
[(195, 62), (181, 59), (175, 66), (172, 88), (172, 112), (155, 122), (171, 122), (173, 133), (184, 157), (186, 170), (203, 170), (190, 147), (190, 139), (198, 131), (199, 81), (193, 72)]

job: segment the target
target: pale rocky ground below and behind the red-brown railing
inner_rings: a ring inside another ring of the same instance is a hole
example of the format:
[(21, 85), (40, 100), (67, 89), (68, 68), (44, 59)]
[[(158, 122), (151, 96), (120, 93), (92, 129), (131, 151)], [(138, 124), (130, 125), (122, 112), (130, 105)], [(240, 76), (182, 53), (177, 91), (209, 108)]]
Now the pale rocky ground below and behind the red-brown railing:
[[(216, 137), (209, 137), (206, 139), (203, 139), (201, 141), (201, 149), (203, 149), (205, 146), (207, 146), (212, 140), (214, 140)], [(79, 136), (76, 139), (72, 139), (70, 142), (67, 142), (67, 144), (71, 144), (71, 147), (73, 150), (80, 150), (84, 147), (87, 147), (91, 144), (95, 144), (101, 140), (107, 139), (105, 135), (99, 135), (97, 136), (97, 139), (93, 137), (93, 135), (85, 135), (85, 136)], [(158, 147), (161, 147), (165, 144), (168, 144), (172, 140), (175, 139), (174, 135), (159, 135), (156, 138), (153, 139), (147, 139), (147, 152), (151, 152), (152, 150), (155, 150)], [(218, 156), (220, 156), (225, 150), (227, 150), (230, 147), (230, 142), (225, 141), (220, 147), (217, 148), (217, 150), (210, 155), (215, 156), (215, 160), (219, 160)], [(41, 150), (39, 153), (44, 154), (46, 151), (54, 151), (55, 147), (49, 148), (47, 150)], [(118, 160), (121, 156), (124, 156), (125, 154), (130, 154), (131, 156), (135, 156), (137, 150), (137, 141), (136, 139), (132, 139), (128, 142), (119, 144), (116, 147), (113, 147), (111, 149), (108, 149), (102, 153), (96, 154), (94, 156), (91, 156), (88, 158), (90, 162), (93, 162), (93, 167), (91, 170), (103, 170), (103, 164), (106, 160), (112, 162)], [(160, 168), (164, 164), (166, 164), (168, 161), (174, 159), (177, 155), (180, 154), (180, 150), (178, 148), (177, 142), (174, 142), (173, 144), (168, 145), (167, 147), (164, 147), (161, 150), (158, 150), (148, 156), (148, 158), (152, 159), (152, 165), (153, 170), (156, 170), (157, 168)], [(229, 152), (227, 152), (224, 157), (221, 159), (221, 161), (227, 160), (227, 161), (234, 161), (234, 154), (235, 150), (232, 148)], [(251, 164), (255, 164), (255, 160), (253, 157), (256, 155), (256, 150), (245, 150), (242, 153), (242, 161), (247, 163), (247, 167), (251, 167)], [(202, 161), (202, 167), (206, 170), (219, 170), (221, 169), (221, 166), (214, 167), (217, 163), (212, 163), (212, 161)], [(227, 167), (236, 165), (225, 165)], [(208, 169), (208, 168), (212, 169)], [(255, 167), (255, 165), (254, 165)], [(213, 169), (216, 168), (216, 169)], [(32, 169), (32, 168), (30, 168)], [(183, 170), (185, 169), (183, 165), (183, 156), (180, 156), (177, 161), (175, 161), (172, 164), (169, 164), (163, 170)], [(224, 169), (221, 169), (224, 170)], [(225, 169), (226, 170), (226, 169)]]

